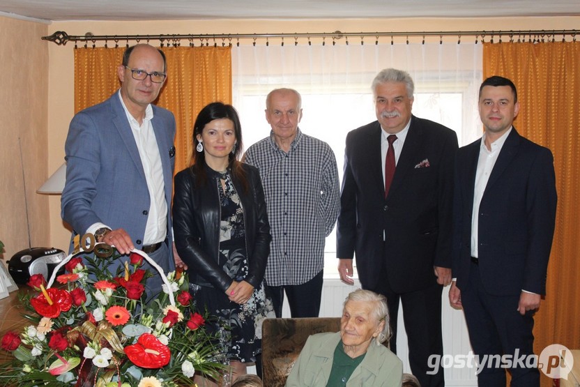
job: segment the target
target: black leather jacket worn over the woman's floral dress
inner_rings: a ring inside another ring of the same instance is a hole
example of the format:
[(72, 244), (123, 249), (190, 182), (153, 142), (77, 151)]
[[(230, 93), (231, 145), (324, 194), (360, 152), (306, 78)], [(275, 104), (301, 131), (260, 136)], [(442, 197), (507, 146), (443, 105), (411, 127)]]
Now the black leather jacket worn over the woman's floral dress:
[[(264, 188), (258, 169), (243, 164), (248, 189), (233, 179), (244, 210), (248, 273), (245, 281), (259, 287), (270, 254), (270, 224), (266, 213)], [(199, 187), (192, 169), (175, 176), (173, 228), (175, 245), (188, 265), (190, 282), (226, 291), (233, 280), (222, 270), (220, 257), (220, 196), (215, 172), (206, 168), (207, 180)]]

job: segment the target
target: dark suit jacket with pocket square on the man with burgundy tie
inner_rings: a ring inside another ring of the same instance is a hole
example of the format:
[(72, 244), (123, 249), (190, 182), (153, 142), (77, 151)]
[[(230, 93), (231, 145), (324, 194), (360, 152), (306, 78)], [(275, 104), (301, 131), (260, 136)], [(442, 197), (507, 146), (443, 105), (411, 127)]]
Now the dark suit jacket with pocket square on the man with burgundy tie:
[(372, 289), (381, 280), (379, 269), (384, 259), (390, 286), (397, 293), (433, 284), (434, 265), (451, 267), (456, 151), (453, 130), (411, 116), (385, 199), (379, 121), (346, 136), (337, 257), (348, 259), (356, 253), (363, 287)]

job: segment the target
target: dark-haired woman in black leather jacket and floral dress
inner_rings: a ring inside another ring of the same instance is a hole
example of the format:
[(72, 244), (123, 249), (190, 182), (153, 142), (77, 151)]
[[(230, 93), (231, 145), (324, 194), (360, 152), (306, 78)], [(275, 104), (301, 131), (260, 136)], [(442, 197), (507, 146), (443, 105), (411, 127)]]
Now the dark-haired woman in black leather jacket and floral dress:
[(271, 238), (264, 189), (258, 170), (238, 161), (242, 133), (231, 105), (201, 109), (193, 144), (191, 167), (175, 176), (175, 245), (198, 307), (218, 317), (211, 328), (224, 337), (235, 379), (261, 353), (261, 322), (275, 317), (264, 289)]

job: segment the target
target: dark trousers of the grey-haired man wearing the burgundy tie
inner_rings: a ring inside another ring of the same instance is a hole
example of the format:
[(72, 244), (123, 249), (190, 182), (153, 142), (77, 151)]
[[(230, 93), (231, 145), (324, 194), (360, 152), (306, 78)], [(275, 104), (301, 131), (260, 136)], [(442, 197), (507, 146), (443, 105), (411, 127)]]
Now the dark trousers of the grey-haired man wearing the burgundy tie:
[(375, 293), (383, 294), (387, 298), (387, 305), (390, 317), (392, 336), (390, 339), (390, 350), (397, 354), (397, 318), (399, 314), (399, 302), (403, 306), (403, 321), (409, 344), (409, 365), (411, 372), (422, 387), (444, 387), (445, 379), (443, 367), (439, 367), (436, 374), (429, 367), (429, 356), (438, 354), (443, 356), (443, 335), (441, 333), (441, 292), (443, 287), (434, 283), (409, 293), (397, 294), (392, 291), (388, 283), (386, 268), (381, 268), (382, 282), (377, 284)]

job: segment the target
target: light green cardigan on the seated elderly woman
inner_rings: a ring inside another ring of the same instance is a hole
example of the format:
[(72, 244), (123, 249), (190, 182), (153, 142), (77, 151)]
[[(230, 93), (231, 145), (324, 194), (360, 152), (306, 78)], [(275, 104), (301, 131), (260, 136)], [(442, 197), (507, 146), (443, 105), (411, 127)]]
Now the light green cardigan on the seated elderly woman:
[[(325, 387), (333, 367), (340, 333), (319, 333), (308, 337), (286, 381), (287, 387)], [(384, 345), (372, 342), (367, 355), (356, 367), (346, 387), (400, 387), (403, 363)]]

